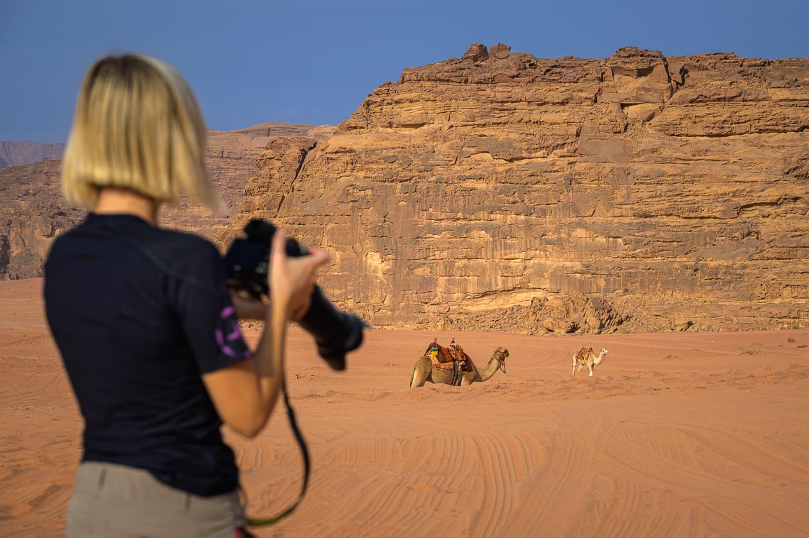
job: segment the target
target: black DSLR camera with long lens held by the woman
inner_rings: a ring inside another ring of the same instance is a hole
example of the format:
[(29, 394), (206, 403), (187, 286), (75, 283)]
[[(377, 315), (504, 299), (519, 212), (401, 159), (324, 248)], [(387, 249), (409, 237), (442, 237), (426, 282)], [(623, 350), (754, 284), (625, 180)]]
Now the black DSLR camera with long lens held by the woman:
[[(228, 286), (244, 290), (256, 299), (269, 296), (269, 252), (275, 227), (254, 218), (244, 227), (246, 239), (235, 239), (225, 255)], [(307, 248), (295, 239), (286, 239), (286, 256), (305, 256)], [(362, 345), (362, 328), (367, 324), (358, 316), (337, 310), (320, 286), (311, 294), (311, 307), (298, 322), (315, 337), (320, 357), (334, 370), (345, 370), (345, 354)]]

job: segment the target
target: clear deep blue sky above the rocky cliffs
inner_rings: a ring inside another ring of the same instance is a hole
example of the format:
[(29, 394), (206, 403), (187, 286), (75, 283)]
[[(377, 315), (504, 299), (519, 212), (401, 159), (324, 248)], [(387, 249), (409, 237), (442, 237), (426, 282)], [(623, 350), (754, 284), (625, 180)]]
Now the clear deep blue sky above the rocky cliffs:
[(502, 42), (536, 57), (809, 57), (809, 0), (0, 0), (0, 140), (64, 142), (107, 53), (174, 65), (213, 129), (337, 125), (410, 66)]

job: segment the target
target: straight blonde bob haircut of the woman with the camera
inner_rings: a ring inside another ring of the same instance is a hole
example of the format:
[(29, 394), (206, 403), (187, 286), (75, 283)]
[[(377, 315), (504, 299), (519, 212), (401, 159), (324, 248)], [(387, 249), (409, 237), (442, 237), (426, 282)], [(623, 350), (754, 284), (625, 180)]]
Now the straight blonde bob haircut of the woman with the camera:
[(175, 204), (180, 189), (222, 207), (205, 167), (205, 122), (171, 66), (138, 54), (103, 57), (84, 75), (62, 163), (68, 200), (95, 206), (103, 187)]

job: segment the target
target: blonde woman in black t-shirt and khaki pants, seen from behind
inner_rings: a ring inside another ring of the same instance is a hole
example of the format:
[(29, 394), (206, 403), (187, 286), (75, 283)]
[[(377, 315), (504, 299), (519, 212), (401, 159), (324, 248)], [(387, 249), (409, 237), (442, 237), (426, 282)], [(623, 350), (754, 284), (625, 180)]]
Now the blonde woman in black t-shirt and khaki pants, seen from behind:
[[(286, 324), (309, 307), (319, 249), (273, 237), (269, 307), (231, 298), (213, 244), (159, 227), (180, 189), (221, 205), (188, 85), (150, 57), (87, 71), (63, 162), (66, 197), (91, 208), (45, 264), (45, 309), (85, 421), (67, 536), (239, 536), (239, 472), (222, 423), (267, 423)], [(266, 321), (251, 353), (237, 317)], [(244, 535), (242, 535), (244, 536)]]

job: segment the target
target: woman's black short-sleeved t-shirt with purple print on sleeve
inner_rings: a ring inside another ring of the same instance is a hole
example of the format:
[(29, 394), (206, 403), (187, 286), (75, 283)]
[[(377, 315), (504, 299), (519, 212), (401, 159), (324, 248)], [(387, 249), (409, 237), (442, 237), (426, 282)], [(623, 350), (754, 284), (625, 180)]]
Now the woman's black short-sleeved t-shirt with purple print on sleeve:
[(238, 487), (201, 379), (250, 354), (214, 245), (91, 213), (54, 242), (44, 299), (85, 420), (83, 461), (146, 469), (197, 495)]

